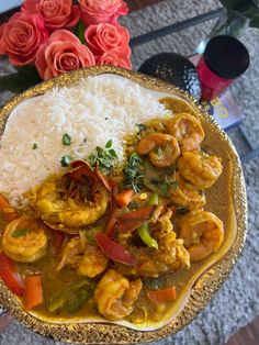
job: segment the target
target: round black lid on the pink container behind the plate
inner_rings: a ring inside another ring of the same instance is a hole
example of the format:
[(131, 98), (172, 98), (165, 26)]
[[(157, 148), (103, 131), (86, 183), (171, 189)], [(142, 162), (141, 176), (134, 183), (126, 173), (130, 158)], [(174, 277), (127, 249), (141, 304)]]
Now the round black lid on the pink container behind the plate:
[(219, 35), (210, 40), (204, 51), (209, 67), (222, 78), (235, 79), (249, 67), (249, 53), (237, 38)]

